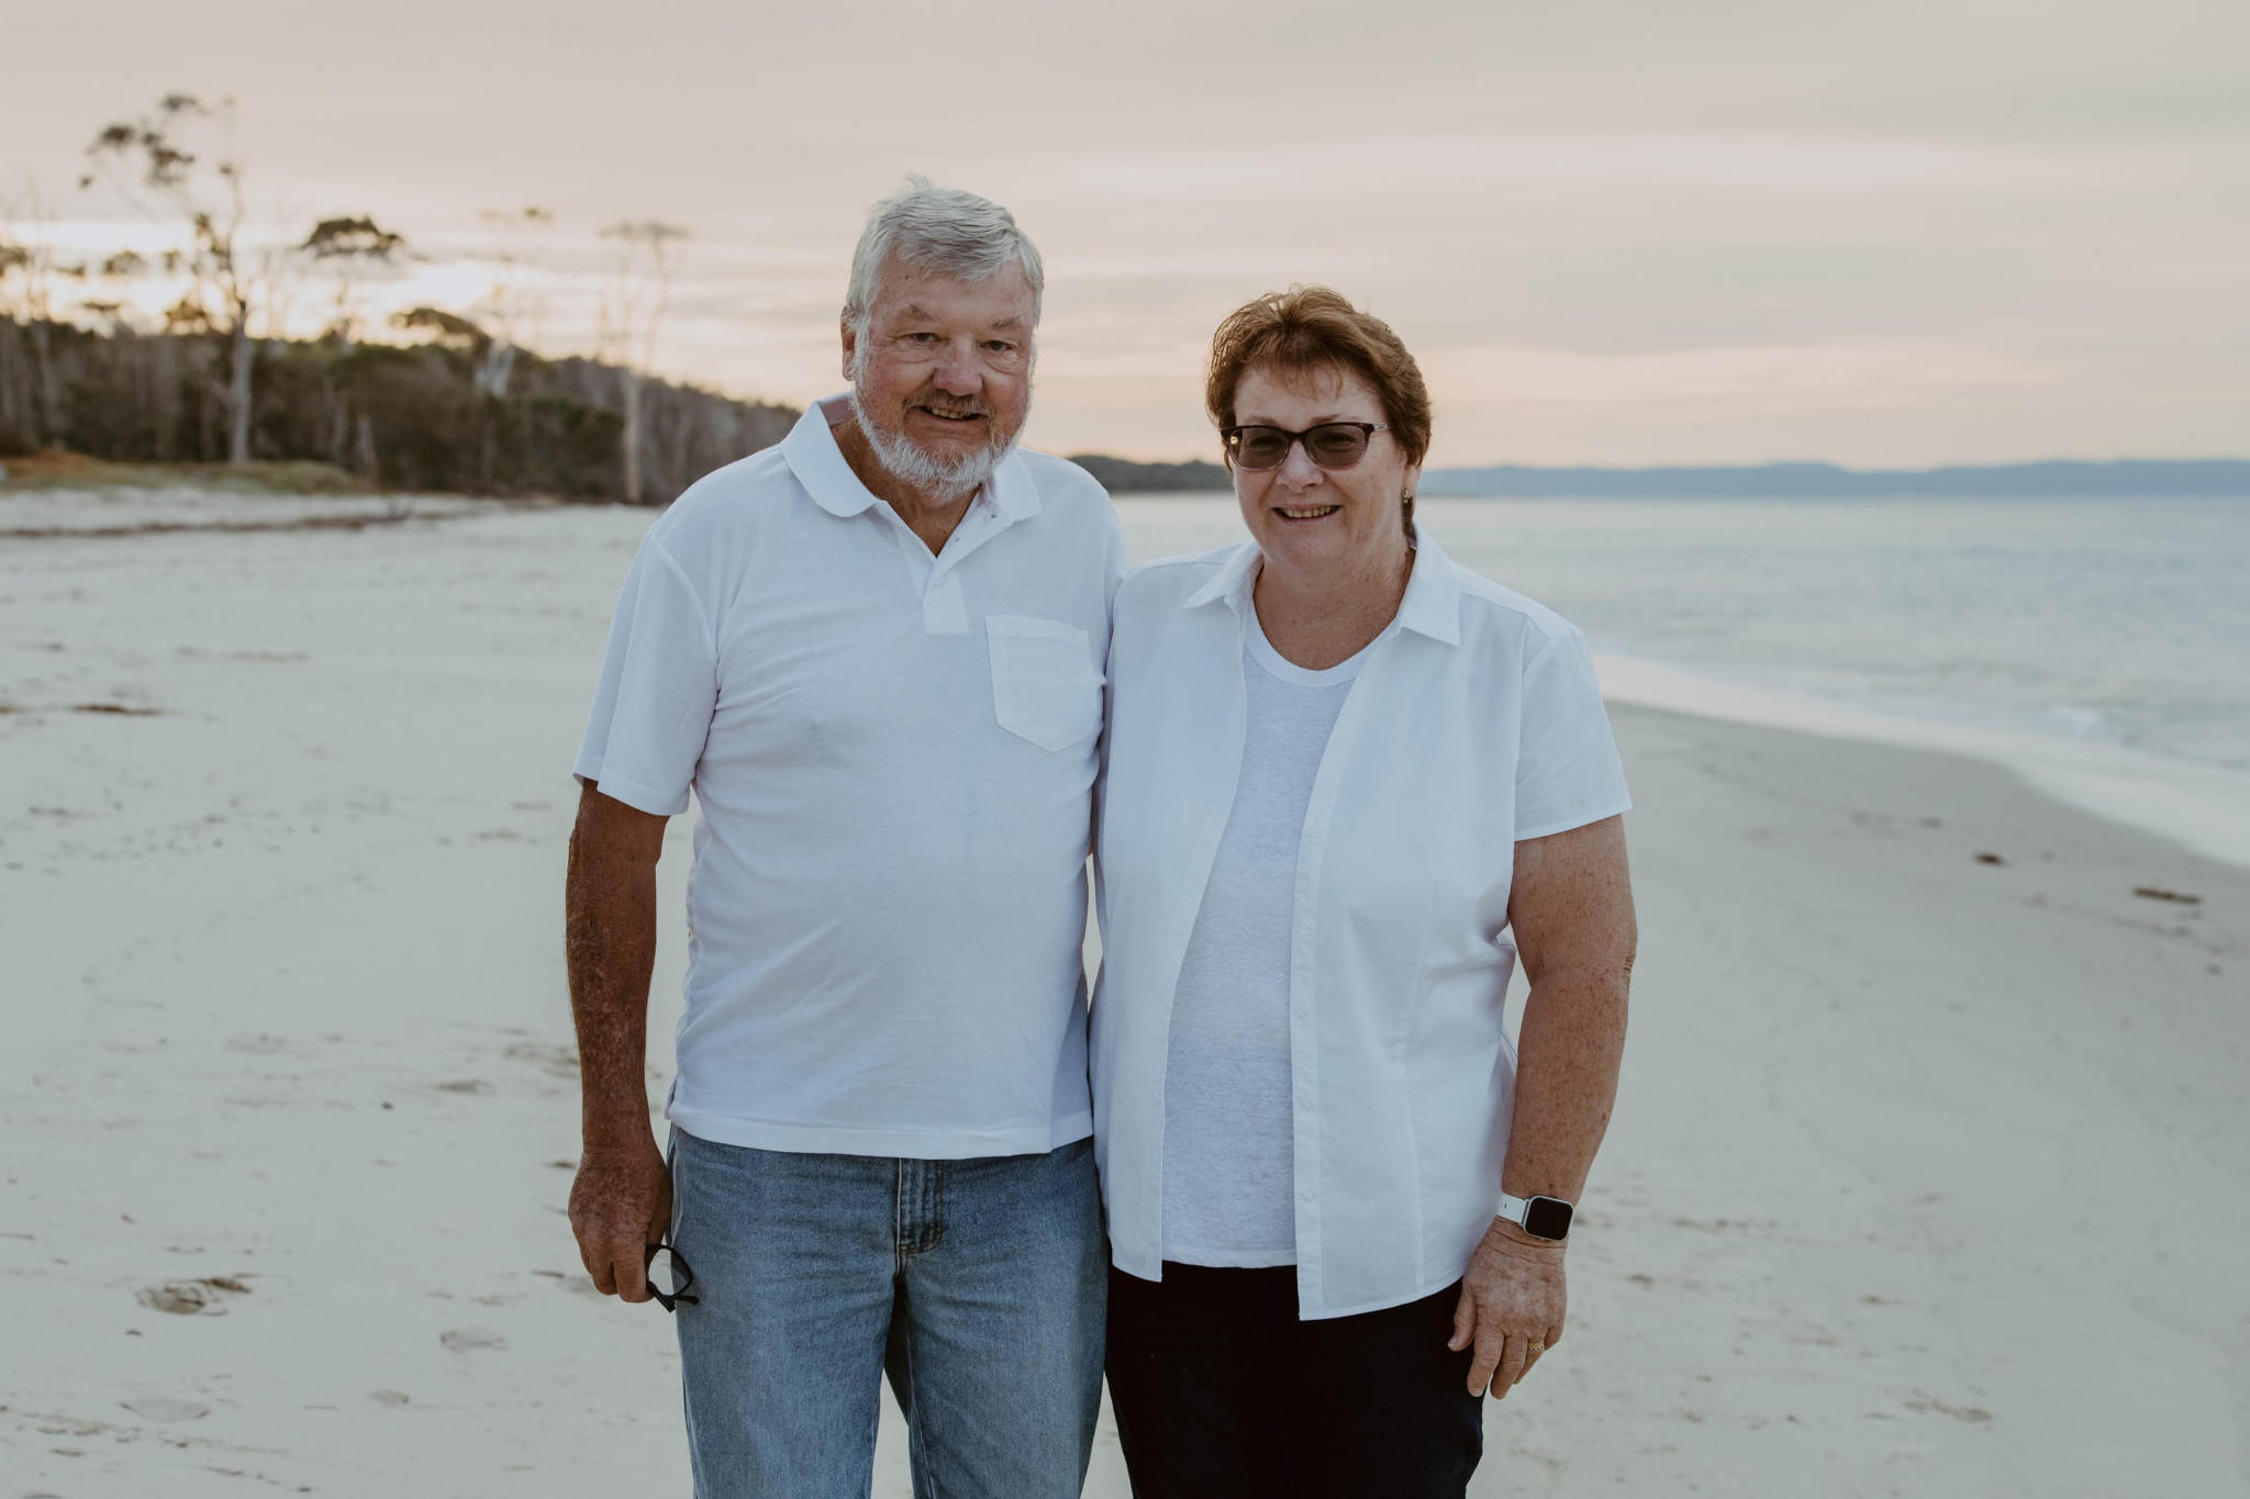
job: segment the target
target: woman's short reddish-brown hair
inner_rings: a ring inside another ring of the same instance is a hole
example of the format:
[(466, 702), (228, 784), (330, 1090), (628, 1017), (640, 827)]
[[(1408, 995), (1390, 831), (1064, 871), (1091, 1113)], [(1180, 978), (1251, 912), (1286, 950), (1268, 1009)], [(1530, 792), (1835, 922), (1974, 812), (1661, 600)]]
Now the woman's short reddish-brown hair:
[(1384, 402), (1390, 436), (1420, 463), (1429, 452), (1429, 387), (1390, 324), (1354, 308), (1325, 285), (1292, 285), (1244, 301), (1210, 335), (1204, 405), (1220, 427), (1235, 425), (1242, 375), (1269, 369), (1282, 380), (1348, 369)]

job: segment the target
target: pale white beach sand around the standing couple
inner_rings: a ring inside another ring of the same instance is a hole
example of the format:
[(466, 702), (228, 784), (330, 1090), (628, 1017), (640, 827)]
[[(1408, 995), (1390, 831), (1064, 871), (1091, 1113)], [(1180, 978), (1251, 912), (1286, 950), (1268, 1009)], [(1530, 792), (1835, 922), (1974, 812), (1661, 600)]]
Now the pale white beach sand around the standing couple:
[[(554, 1164), (646, 521), (0, 539), (0, 1499), (686, 1492)], [(1629, 1074), (1476, 1492), (2250, 1495), (2250, 874), (1969, 760), (1618, 728)]]

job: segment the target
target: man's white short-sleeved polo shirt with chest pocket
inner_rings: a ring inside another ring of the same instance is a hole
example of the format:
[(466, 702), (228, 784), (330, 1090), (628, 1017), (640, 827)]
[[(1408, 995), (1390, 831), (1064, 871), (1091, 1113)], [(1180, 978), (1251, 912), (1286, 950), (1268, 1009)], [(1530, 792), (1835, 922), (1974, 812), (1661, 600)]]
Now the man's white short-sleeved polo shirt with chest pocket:
[(576, 773), (702, 811), (680, 1128), (920, 1160), (1094, 1128), (1080, 944), (1123, 555), (1084, 470), (1017, 452), (932, 557), (821, 405), (650, 526)]

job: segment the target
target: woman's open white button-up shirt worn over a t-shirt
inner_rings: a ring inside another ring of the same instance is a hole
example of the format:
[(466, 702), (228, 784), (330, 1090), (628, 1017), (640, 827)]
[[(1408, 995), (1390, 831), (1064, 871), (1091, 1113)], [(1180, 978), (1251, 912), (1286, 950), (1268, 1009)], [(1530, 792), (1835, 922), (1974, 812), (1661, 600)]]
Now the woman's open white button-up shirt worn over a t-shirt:
[[(1172, 993), (1242, 762), (1249, 542), (1116, 598), (1098, 870), (1094, 1130), (1112, 1259), (1163, 1274)], [(1514, 1106), (1501, 1023), (1514, 845), (1629, 807), (1577, 629), (1426, 535), (1330, 733), (1296, 856), (1289, 1072), (1303, 1317), (1460, 1279)]]

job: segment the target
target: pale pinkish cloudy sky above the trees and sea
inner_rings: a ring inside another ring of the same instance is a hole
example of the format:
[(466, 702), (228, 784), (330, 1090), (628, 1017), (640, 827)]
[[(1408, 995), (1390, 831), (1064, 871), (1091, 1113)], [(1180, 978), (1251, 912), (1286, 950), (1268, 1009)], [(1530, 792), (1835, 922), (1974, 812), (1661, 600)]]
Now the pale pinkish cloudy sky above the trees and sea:
[(0, 193), (65, 247), (162, 236), (76, 191), (104, 124), (232, 97), (266, 234), (414, 245), (378, 315), (477, 315), (506, 247), (587, 346), (598, 229), (688, 229), (655, 364), (742, 398), (842, 389), (920, 171), (1046, 256), (1055, 452), (1215, 456), (1210, 328), (1325, 281), (1433, 465), (2250, 454), (2243, 0), (0, 0)]

